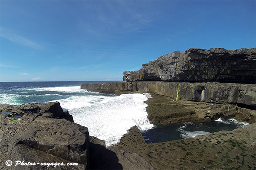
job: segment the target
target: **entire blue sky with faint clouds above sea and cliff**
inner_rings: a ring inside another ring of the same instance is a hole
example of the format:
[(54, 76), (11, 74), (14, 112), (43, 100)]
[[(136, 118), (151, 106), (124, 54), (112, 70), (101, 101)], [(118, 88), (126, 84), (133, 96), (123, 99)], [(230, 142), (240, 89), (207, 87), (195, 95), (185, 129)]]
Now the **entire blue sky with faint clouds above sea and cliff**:
[(121, 81), (169, 52), (253, 48), (255, 9), (255, 0), (0, 0), (0, 81)]

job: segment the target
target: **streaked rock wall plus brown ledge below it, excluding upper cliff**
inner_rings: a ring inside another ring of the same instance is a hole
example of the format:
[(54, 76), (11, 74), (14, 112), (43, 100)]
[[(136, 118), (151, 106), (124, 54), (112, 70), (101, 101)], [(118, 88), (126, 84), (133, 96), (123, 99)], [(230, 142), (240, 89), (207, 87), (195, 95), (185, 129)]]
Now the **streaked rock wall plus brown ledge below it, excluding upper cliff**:
[[(204, 90), (195, 90), (202, 87)], [(85, 83), (81, 88), (117, 95), (151, 93), (153, 97), (145, 103), (148, 104), (148, 119), (153, 124), (205, 122), (219, 118), (256, 122), (256, 84), (145, 81)]]

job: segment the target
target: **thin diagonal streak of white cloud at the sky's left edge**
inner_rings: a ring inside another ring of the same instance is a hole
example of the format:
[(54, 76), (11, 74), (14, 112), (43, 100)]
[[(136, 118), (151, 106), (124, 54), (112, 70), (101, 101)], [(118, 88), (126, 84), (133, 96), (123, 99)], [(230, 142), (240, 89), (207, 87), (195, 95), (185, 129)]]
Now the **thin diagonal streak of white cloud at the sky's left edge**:
[(21, 36), (21, 35), (17, 35), (11, 31), (8, 31), (7, 29), (1, 28), (0, 37), (6, 38), (12, 42), (16, 42), (20, 45), (24, 45), (27, 47), (31, 47), (31, 48), (35, 48), (35, 49), (43, 48), (43, 45), (40, 45), (28, 38)]

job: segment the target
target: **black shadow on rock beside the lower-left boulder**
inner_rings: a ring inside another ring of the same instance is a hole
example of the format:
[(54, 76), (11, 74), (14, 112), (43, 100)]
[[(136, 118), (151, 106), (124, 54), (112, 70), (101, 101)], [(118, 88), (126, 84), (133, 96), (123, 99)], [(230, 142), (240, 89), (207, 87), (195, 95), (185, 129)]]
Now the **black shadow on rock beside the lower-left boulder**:
[(100, 144), (90, 143), (90, 170), (122, 170), (115, 152)]

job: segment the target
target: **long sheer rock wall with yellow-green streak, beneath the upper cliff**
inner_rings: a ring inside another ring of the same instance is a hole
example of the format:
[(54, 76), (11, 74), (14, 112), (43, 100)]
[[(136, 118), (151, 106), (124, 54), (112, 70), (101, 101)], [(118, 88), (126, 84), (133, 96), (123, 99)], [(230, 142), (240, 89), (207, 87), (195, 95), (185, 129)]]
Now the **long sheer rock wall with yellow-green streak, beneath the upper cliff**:
[(117, 94), (122, 92), (147, 92), (178, 100), (207, 103), (238, 103), (252, 106), (254, 109), (256, 106), (256, 84), (139, 81), (84, 83), (81, 89)]

